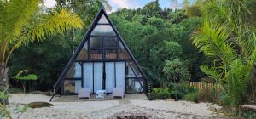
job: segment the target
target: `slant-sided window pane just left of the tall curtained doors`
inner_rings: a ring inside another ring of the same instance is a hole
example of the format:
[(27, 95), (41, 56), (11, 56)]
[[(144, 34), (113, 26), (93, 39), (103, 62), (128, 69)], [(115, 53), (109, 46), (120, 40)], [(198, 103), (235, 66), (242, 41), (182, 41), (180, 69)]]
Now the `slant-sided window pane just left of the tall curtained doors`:
[(66, 78), (77, 78), (81, 77), (81, 65), (78, 62), (73, 63), (71, 68), (67, 72)]

